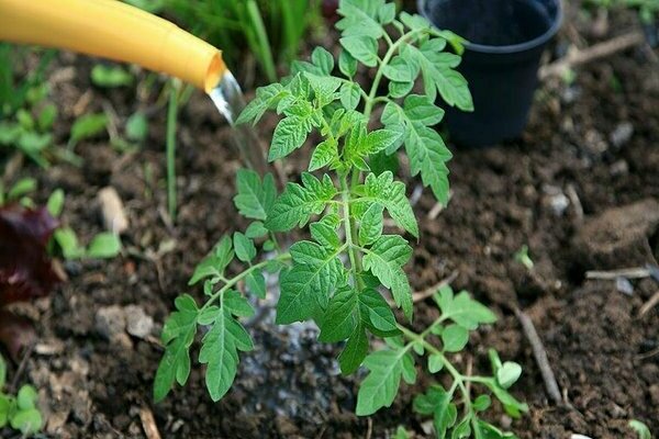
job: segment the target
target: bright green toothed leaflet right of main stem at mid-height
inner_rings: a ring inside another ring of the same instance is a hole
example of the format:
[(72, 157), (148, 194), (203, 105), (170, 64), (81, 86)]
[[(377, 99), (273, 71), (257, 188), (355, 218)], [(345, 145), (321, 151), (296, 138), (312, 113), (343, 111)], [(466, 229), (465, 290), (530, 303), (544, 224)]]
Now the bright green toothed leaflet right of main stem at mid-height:
[(382, 204), (400, 227), (414, 237), (418, 237), (418, 225), (410, 200), (405, 195), (405, 184), (393, 181), (391, 171), (382, 172), (379, 177), (369, 173), (365, 183), (357, 191), (361, 195), (362, 202)]

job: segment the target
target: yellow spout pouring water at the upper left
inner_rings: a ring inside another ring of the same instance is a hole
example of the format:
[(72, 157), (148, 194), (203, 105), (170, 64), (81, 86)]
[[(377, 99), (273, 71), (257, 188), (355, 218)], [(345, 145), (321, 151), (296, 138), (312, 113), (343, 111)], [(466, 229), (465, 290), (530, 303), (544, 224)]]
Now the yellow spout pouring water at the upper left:
[(137, 64), (205, 92), (226, 71), (212, 45), (116, 0), (0, 0), (0, 41)]

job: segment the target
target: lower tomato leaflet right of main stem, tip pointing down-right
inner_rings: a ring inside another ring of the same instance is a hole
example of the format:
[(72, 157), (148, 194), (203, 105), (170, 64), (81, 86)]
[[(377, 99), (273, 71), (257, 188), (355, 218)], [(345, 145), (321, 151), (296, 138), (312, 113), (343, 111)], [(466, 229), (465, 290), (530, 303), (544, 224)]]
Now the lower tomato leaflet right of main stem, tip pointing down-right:
[(384, 286), (407, 318), (412, 316), (412, 291), (402, 267), (410, 260), (412, 248), (396, 235), (381, 236), (364, 256), (364, 268), (370, 270)]

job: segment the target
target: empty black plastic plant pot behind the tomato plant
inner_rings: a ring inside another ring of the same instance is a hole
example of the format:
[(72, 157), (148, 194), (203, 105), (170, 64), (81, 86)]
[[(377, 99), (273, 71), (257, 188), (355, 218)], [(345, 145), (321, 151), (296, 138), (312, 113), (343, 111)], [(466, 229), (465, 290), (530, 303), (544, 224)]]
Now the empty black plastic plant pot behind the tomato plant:
[(434, 25), (467, 38), (458, 70), (474, 112), (447, 109), (456, 143), (483, 147), (524, 131), (543, 49), (562, 20), (560, 0), (418, 0)]

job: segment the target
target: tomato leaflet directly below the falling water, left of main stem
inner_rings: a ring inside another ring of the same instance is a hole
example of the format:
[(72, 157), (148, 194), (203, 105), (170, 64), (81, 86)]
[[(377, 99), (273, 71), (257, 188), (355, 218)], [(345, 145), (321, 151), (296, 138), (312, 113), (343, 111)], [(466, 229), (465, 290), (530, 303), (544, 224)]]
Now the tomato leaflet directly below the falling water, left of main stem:
[(277, 198), (272, 175), (268, 173), (261, 181), (256, 171), (238, 169), (236, 185), (238, 193), (234, 196), (234, 204), (241, 215), (265, 221)]

